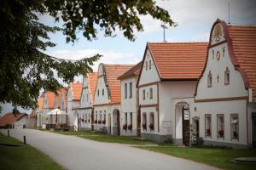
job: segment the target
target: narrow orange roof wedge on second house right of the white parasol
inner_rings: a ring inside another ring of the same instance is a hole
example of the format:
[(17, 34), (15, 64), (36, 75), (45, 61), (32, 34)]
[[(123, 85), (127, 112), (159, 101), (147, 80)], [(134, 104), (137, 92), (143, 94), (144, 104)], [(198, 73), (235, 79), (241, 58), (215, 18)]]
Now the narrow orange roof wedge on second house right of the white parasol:
[(88, 90), (90, 93), (90, 102), (91, 105), (93, 105), (93, 101), (94, 101), (94, 94), (95, 94), (95, 90), (96, 90), (96, 83), (98, 80), (98, 73), (97, 72), (91, 72), (91, 73), (87, 73), (86, 77), (88, 78)]

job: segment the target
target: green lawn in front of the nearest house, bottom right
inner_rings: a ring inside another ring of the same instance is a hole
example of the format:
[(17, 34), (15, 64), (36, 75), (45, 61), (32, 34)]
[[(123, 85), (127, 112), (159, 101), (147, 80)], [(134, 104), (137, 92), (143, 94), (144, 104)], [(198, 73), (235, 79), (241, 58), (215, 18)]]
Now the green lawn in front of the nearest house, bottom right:
[(177, 147), (177, 146), (145, 146), (138, 147), (170, 156), (182, 157), (192, 161), (206, 163), (213, 167), (232, 170), (256, 169), (256, 164), (234, 163), (236, 157), (256, 157), (256, 150), (220, 150), (212, 148)]

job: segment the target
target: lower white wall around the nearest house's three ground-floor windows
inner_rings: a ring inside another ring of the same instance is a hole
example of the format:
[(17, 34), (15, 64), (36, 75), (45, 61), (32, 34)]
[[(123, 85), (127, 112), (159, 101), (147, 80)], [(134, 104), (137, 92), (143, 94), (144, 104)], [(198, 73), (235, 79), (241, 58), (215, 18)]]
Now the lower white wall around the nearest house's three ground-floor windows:
[[(247, 102), (246, 100), (218, 101), (195, 103), (196, 111), (192, 116), (200, 117), (200, 136), (205, 138), (205, 114), (212, 115), (212, 139), (206, 140), (222, 141), (235, 144), (247, 144)], [(217, 138), (217, 114), (224, 114), (224, 139)], [(230, 114), (238, 114), (239, 141), (230, 139)]]

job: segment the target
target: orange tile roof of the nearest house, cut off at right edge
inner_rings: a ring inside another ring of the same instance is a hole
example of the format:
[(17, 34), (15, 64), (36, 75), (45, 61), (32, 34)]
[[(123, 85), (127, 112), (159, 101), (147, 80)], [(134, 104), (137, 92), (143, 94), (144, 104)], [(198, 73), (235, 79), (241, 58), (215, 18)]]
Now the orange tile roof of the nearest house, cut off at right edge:
[(256, 101), (256, 26), (228, 26), (233, 52)]

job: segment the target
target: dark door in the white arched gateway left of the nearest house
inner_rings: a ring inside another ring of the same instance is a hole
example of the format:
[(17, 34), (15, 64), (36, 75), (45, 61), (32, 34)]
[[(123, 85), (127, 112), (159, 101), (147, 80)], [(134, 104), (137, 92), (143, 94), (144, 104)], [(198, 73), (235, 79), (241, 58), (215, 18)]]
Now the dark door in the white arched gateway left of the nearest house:
[(188, 146), (190, 139), (189, 109), (183, 107), (183, 144)]

